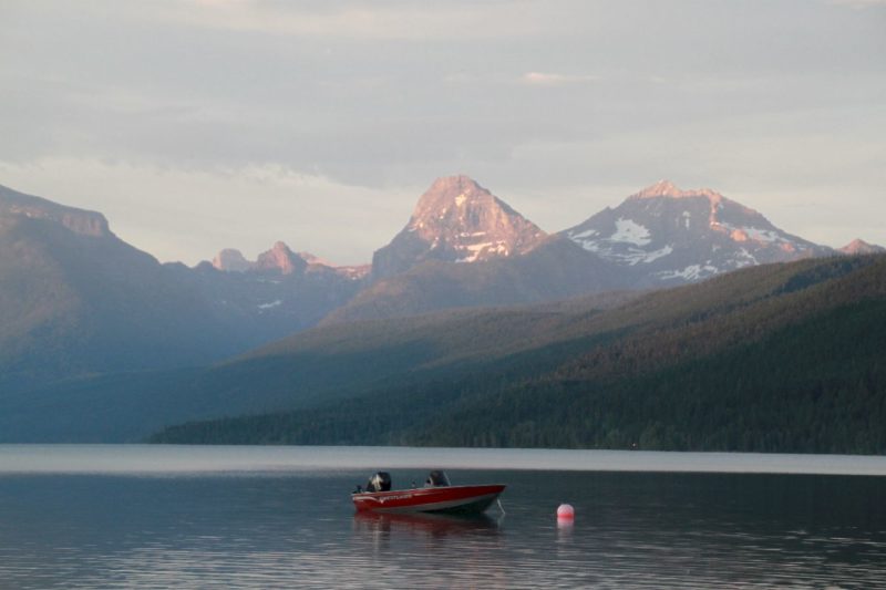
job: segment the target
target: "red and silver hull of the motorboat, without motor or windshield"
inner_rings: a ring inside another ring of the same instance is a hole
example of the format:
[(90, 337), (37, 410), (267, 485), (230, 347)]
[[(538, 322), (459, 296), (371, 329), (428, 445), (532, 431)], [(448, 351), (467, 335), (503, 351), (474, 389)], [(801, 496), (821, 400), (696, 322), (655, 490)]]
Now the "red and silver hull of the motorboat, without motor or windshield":
[(358, 511), (478, 514), (504, 491), (503, 485), (446, 486), (353, 494)]

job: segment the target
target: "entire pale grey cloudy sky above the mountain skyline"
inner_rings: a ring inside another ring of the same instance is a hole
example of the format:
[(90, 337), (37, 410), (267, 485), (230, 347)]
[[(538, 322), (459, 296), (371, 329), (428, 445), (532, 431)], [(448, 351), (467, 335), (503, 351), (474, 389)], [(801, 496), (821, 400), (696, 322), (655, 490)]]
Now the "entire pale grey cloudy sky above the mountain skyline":
[(0, 0), (0, 138), (188, 265), (368, 262), (452, 174), (550, 232), (668, 178), (886, 245), (886, 0)]

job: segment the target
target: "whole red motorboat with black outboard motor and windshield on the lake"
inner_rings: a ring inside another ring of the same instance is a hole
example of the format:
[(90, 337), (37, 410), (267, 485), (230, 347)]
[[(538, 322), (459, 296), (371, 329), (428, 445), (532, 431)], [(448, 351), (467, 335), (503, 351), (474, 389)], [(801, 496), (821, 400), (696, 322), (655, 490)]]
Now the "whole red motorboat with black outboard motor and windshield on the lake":
[(480, 514), (505, 490), (501, 484), (453, 486), (445, 473), (433, 470), (424, 487), (391, 489), (388, 472), (369, 478), (365, 490), (357, 487), (351, 499), (358, 513)]

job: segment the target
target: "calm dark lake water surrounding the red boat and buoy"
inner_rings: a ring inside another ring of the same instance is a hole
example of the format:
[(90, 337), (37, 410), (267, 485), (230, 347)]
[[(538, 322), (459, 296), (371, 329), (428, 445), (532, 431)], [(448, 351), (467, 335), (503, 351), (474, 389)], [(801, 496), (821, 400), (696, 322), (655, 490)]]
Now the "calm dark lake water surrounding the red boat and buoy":
[[(505, 513), (354, 514), (430, 468)], [(0, 445), (0, 588), (884, 584), (886, 457)]]

